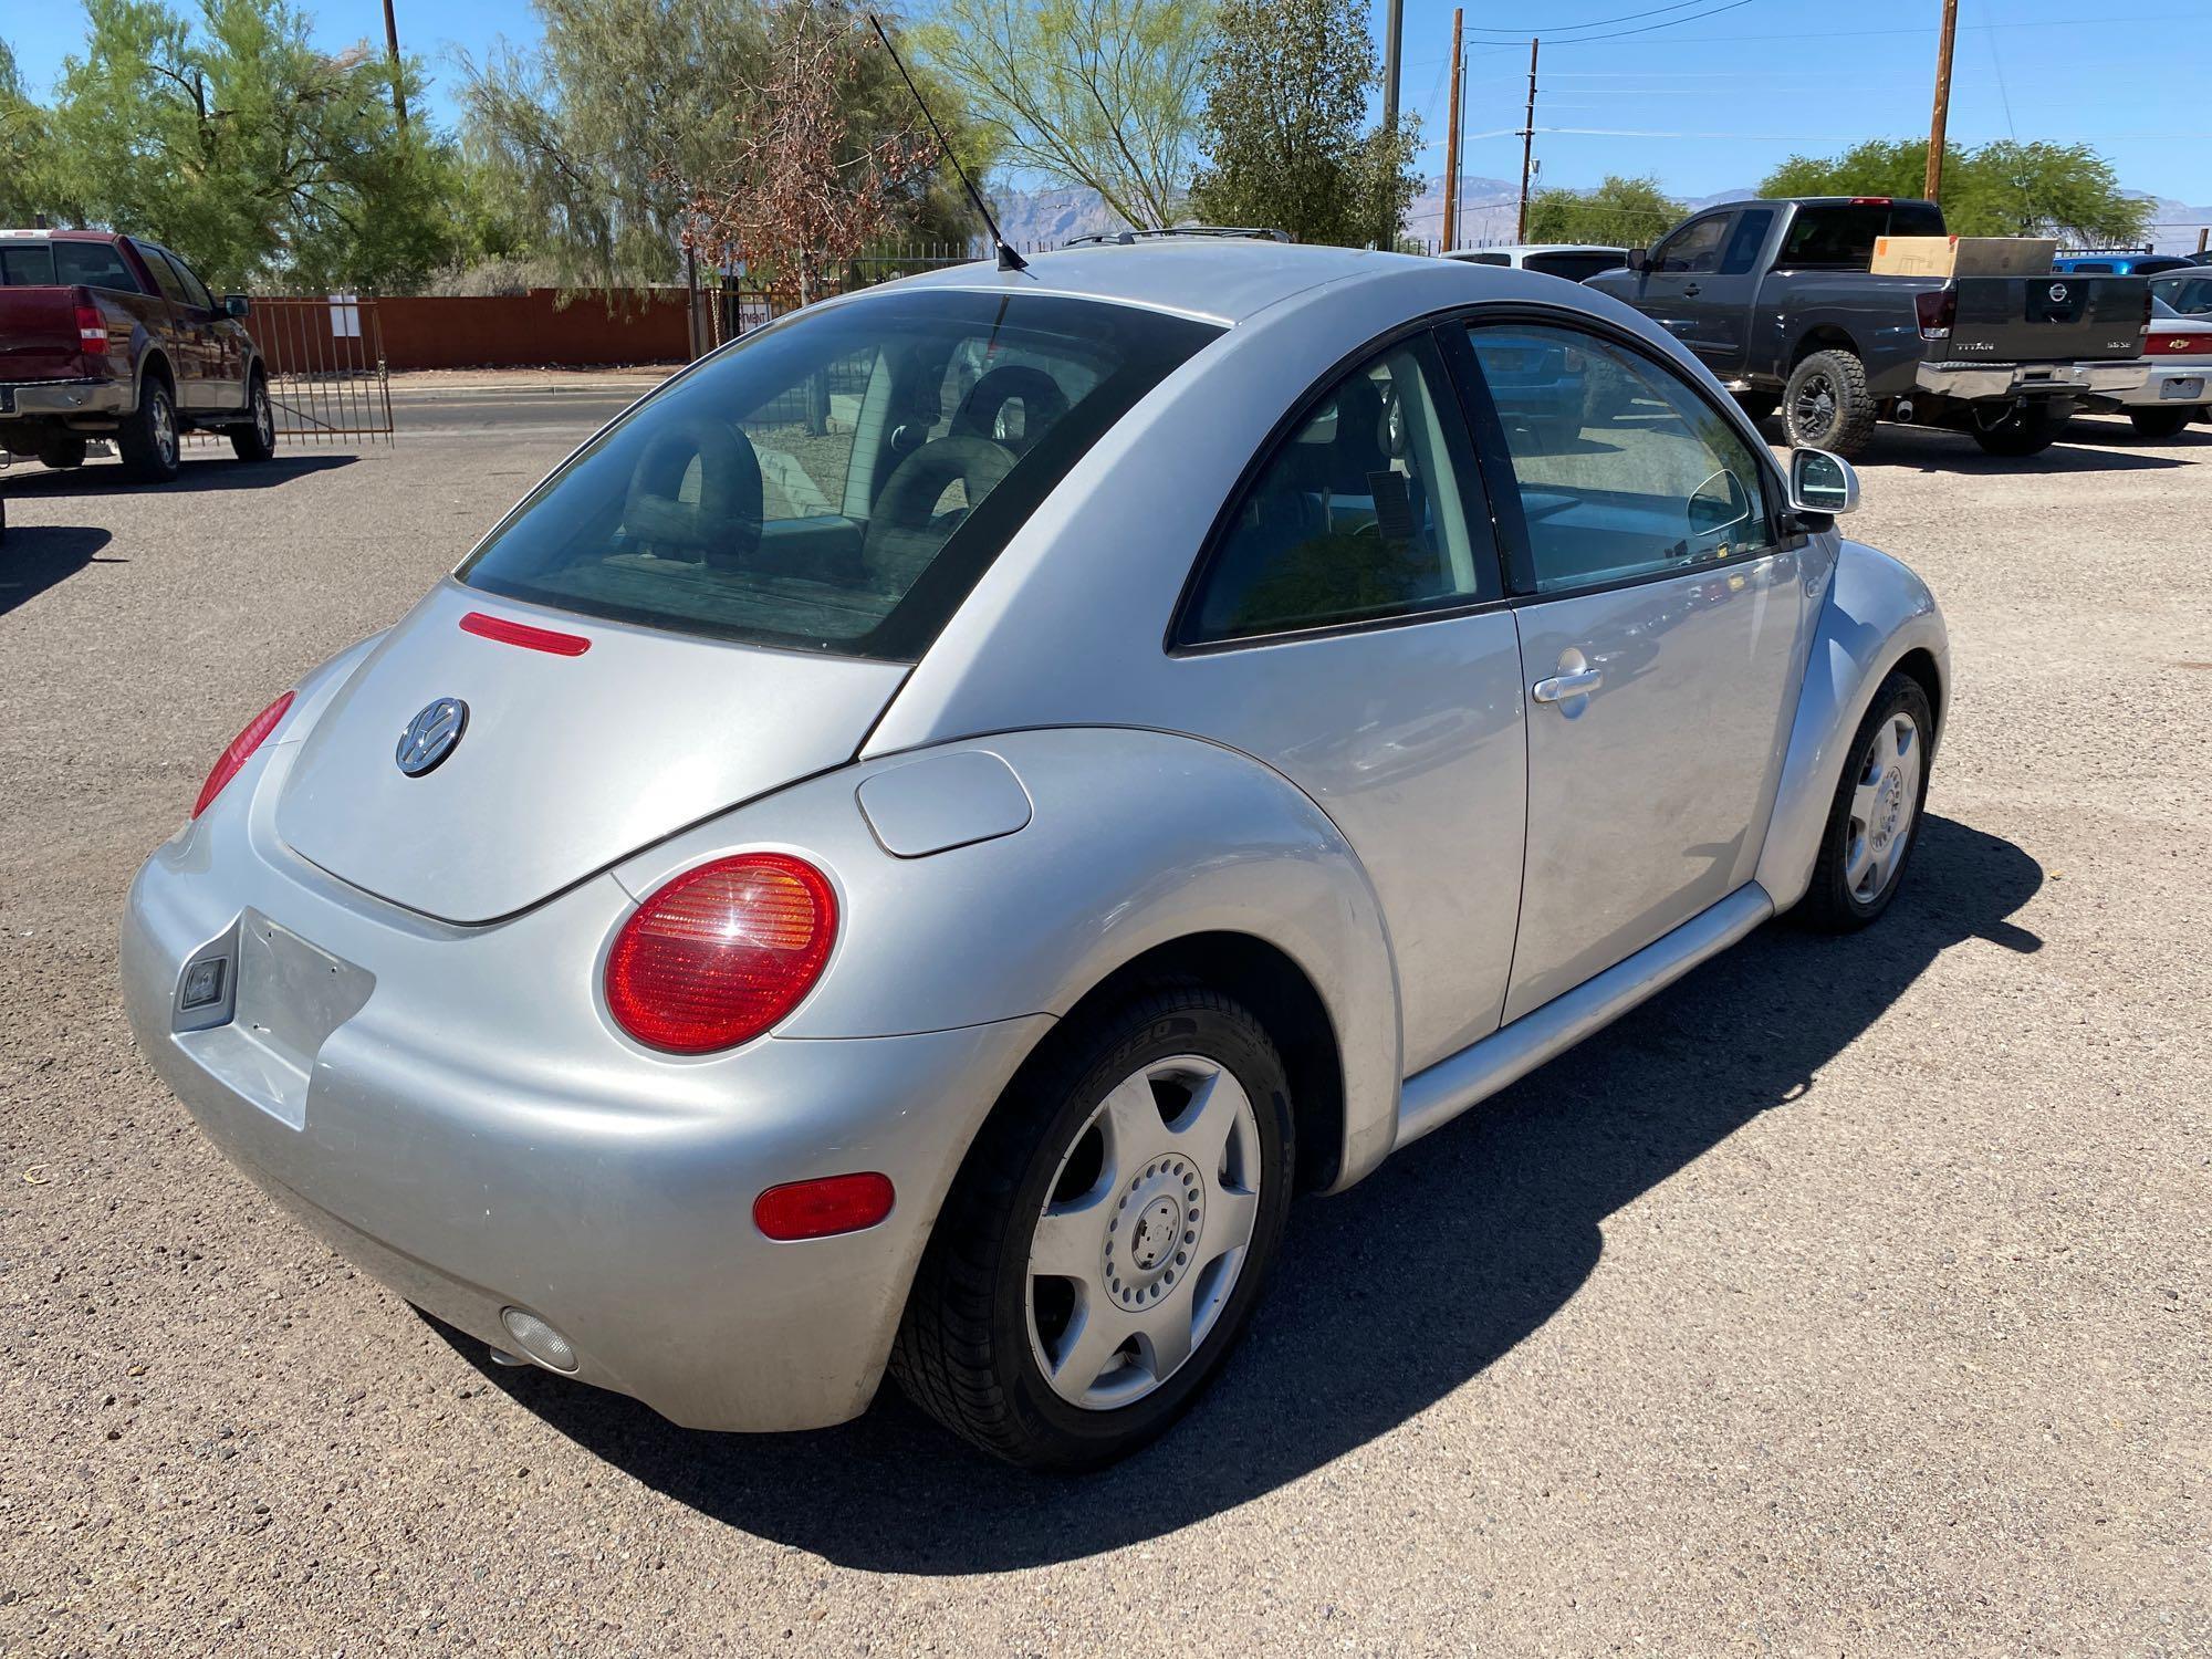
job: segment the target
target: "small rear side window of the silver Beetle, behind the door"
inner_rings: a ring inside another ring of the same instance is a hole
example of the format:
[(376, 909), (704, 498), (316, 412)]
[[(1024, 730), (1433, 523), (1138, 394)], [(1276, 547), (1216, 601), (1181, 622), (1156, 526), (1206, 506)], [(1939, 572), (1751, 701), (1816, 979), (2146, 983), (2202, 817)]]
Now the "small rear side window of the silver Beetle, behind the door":
[[(1183, 611), (1183, 644), (1495, 599), (1469, 533), (1473, 465), (1429, 338), (1369, 358), (1239, 498)], [(1464, 480), (1464, 482), (1462, 482)]]

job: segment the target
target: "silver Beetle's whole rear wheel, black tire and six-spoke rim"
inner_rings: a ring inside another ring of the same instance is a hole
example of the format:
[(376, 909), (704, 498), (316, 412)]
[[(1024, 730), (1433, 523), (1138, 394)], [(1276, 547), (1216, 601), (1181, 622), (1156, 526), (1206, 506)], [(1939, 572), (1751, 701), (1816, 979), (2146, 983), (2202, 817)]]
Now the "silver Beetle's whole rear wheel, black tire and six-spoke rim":
[[(1181, 1139), (1197, 1130), (1221, 1148)], [(1126, 1458), (1243, 1336), (1283, 1239), (1294, 1159), (1283, 1060), (1239, 1002), (1170, 984), (1062, 1026), (953, 1181), (891, 1374), (947, 1429), (1024, 1469)], [(1040, 1270), (1055, 1252), (1068, 1274)]]

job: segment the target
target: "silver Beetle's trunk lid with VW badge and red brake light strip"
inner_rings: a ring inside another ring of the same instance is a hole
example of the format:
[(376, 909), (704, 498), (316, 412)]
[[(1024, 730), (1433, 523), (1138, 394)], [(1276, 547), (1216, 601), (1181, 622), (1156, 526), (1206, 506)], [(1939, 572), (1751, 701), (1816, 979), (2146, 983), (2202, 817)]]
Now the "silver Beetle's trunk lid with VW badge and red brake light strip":
[[(551, 637), (484, 637), (462, 626), (469, 617)], [(323, 710), (285, 776), (276, 834), (394, 905), (498, 920), (852, 759), (905, 672), (571, 617), (445, 582)], [(467, 706), (460, 739), (411, 776), (400, 741), (442, 699)]]

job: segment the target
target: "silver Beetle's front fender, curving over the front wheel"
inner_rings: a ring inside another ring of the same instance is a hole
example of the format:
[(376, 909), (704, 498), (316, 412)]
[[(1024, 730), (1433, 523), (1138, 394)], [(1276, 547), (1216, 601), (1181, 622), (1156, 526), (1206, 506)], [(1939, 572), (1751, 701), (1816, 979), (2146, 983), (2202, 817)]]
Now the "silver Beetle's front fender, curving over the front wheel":
[(1936, 659), (1936, 730), (1951, 692), (1951, 641), (1927, 584), (1887, 553), (1845, 542), (1836, 555), (1805, 686), (1798, 695), (1783, 779), (1759, 854), (1756, 880), (1774, 909), (1796, 905), (1812, 887), (1845, 752), (1867, 717), (1874, 692), (1911, 650)]

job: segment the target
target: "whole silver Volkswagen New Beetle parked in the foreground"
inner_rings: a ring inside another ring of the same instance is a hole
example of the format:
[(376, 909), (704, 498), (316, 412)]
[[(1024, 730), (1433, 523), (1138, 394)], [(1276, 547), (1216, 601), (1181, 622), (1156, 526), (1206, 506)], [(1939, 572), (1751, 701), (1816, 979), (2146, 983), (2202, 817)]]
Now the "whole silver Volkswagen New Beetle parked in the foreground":
[(257, 714), (139, 1044), (422, 1310), (681, 1425), (1082, 1467), (1334, 1192), (1896, 898), (1929, 591), (1639, 314), (1161, 237), (714, 354)]

